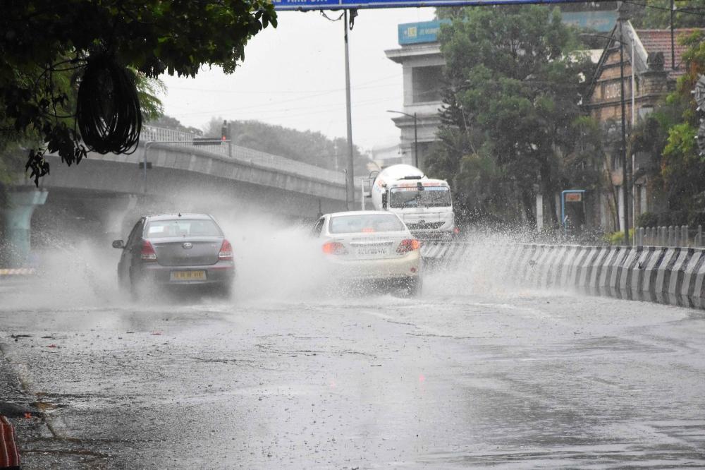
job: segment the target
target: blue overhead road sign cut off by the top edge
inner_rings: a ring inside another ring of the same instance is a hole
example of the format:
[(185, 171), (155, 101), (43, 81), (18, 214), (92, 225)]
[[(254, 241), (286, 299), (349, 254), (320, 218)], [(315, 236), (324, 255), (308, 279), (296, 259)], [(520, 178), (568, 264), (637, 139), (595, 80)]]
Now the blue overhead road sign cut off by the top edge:
[(400, 8), (403, 6), (488, 6), (526, 4), (577, 4), (584, 0), (271, 0), (274, 9), (351, 10), (357, 8)]

